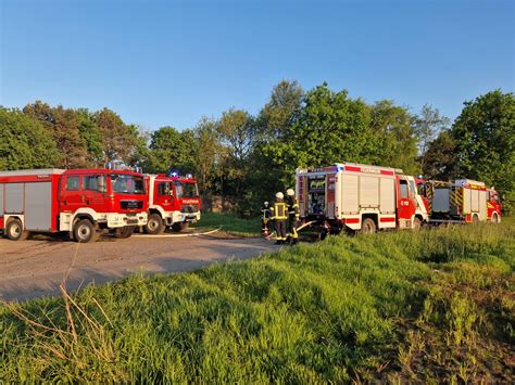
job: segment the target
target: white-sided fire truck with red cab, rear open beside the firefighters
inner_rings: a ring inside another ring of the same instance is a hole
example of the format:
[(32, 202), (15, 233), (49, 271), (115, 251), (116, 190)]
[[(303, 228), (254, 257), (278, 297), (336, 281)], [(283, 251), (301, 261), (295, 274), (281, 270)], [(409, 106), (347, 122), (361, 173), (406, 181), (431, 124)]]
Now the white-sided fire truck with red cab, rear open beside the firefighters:
[(296, 179), (301, 219), (326, 232), (417, 229), (428, 220), (417, 180), (400, 169), (340, 163), (298, 169)]

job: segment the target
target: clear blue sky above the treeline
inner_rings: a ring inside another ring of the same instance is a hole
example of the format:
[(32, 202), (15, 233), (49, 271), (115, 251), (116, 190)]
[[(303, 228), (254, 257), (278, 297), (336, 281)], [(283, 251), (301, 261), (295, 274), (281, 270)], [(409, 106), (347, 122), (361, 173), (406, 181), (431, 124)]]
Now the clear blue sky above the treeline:
[(0, 104), (108, 106), (145, 129), (255, 114), (281, 79), (451, 118), (515, 84), (514, 1), (0, 3)]

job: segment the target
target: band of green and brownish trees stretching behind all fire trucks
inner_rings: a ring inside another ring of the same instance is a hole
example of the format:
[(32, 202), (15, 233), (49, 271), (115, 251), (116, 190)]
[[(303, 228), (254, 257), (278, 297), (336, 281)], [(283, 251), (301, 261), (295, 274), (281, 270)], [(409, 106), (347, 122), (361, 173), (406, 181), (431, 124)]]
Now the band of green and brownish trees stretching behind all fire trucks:
[[(173, 119), (173, 117), (171, 117)], [(357, 162), (426, 178), (467, 177), (494, 185), (515, 204), (515, 97), (500, 90), (464, 103), (451, 121), (425, 105), (412, 113), (389, 100), (373, 104), (323, 84), (304, 91), (280, 81), (255, 116), (229, 108), (183, 131), (143, 132), (113, 111), (0, 106), (0, 169), (138, 165), (198, 177), (203, 194), (231, 197), (241, 213), (292, 185), (297, 167)]]

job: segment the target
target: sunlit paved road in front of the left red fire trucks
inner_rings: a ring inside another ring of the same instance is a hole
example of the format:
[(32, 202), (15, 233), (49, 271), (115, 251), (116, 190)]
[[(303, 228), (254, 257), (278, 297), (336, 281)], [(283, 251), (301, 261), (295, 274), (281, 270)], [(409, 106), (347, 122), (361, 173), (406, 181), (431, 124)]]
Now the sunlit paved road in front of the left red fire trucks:
[(135, 234), (127, 240), (102, 238), (91, 244), (45, 235), (21, 242), (0, 239), (0, 298), (24, 300), (58, 294), (59, 283), (68, 271), (66, 287), (75, 291), (136, 272), (180, 272), (215, 261), (252, 258), (277, 247), (259, 238), (218, 233), (165, 238)]

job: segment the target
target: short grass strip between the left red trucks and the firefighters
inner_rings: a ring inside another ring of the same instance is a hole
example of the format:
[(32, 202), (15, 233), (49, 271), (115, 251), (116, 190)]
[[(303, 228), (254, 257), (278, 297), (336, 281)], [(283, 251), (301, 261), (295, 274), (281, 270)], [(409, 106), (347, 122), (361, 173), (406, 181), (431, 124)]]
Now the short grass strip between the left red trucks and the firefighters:
[(259, 218), (246, 219), (222, 213), (202, 213), (200, 220), (192, 227), (206, 230), (221, 228), (225, 233), (240, 236), (256, 236), (261, 234)]

